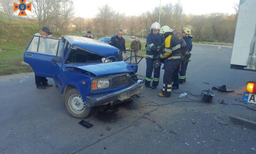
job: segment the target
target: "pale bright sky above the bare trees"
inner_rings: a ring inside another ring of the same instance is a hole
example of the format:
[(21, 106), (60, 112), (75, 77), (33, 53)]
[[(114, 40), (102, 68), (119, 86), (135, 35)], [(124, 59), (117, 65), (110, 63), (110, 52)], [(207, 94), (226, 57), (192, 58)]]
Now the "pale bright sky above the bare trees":
[[(108, 4), (114, 11), (125, 13), (127, 16), (140, 15), (159, 7), (160, 0), (73, 0), (75, 17), (93, 18), (99, 11), (98, 7)], [(178, 0), (161, 0), (161, 6)], [(206, 13), (235, 13), (234, 4), (239, 0), (180, 0), (185, 14), (202, 15)]]

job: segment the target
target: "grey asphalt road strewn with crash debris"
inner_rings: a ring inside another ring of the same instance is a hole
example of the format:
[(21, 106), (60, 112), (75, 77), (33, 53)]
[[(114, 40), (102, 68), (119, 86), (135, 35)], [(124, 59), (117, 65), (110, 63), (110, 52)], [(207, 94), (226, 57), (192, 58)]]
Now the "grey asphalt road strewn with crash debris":
[[(36, 88), (34, 73), (0, 77), (0, 154), (255, 154), (256, 132), (230, 124), (229, 116), (256, 121), (256, 111), (241, 106), (256, 105), (240, 102), (246, 82), (256, 76), (231, 70), (231, 51), (194, 44), (187, 82), (170, 98), (157, 96), (161, 70), (157, 89), (143, 87), (132, 103), (96, 108), (84, 119), (94, 125), (89, 129), (69, 116), (58, 88)], [(138, 74), (144, 76), (145, 69), (143, 60)], [(211, 90), (223, 84), (236, 93)], [(208, 89), (215, 95), (212, 103), (193, 96)], [(187, 97), (179, 98), (181, 92)]]

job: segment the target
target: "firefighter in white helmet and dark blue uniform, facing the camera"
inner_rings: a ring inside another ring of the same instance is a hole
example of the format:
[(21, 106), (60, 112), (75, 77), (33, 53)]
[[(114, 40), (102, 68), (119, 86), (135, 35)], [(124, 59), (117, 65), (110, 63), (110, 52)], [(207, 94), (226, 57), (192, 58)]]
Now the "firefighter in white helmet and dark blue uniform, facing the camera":
[(151, 76), (153, 71), (154, 58), (157, 57), (160, 53), (162, 53), (163, 45), (164, 45), (164, 37), (159, 34), (160, 24), (158, 22), (154, 22), (151, 25), (151, 33), (147, 35), (147, 51), (146, 51), (146, 78), (145, 78), (145, 86), (147, 88), (155, 89), (159, 83), (160, 70), (161, 67), (158, 67), (154, 70), (154, 77), (151, 87)]

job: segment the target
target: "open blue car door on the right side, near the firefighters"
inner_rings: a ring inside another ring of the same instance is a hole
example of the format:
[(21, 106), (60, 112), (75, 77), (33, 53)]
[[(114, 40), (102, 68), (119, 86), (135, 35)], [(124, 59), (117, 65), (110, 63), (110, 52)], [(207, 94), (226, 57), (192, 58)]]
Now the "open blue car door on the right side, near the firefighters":
[(124, 62), (126, 62), (129, 66), (131, 66), (135, 71), (135, 73), (137, 73), (138, 64), (144, 57), (136, 55), (136, 52), (134, 50), (123, 50), (123, 51), (126, 51), (127, 55), (129, 56), (126, 59), (124, 59)]

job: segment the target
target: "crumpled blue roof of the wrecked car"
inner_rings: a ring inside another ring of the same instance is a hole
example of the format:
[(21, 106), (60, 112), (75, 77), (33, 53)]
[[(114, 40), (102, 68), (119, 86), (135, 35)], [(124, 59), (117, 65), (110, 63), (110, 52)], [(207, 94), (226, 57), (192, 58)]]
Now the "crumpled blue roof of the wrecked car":
[(65, 35), (64, 39), (68, 40), (71, 46), (87, 49), (104, 57), (116, 56), (118, 54), (118, 48), (105, 44), (100, 40), (72, 35)]

